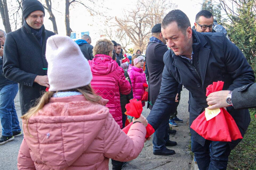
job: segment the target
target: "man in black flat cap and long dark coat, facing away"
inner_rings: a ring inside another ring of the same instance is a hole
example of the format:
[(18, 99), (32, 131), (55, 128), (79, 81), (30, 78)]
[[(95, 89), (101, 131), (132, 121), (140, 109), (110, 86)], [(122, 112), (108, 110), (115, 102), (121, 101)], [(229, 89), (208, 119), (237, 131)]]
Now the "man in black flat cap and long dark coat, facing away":
[[(165, 39), (162, 37), (161, 24), (156, 24), (151, 30), (152, 36), (146, 49), (147, 69), (149, 72), (149, 99), (147, 107), (151, 110), (160, 91), (162, 72), (165, 66), (163, 55), (168, 50)], [(180, 92), (180, 91), (179, 91)], [(171, 114), (171, 112), (170, 112)], [(173, 114), (173, 113), (172, 113)], [(154, 133), (153, 154), (154, 155), (173, 155), (174, 150), (166, 146), (175, 146), (177, 142), (169, 140), (169, 124), (161, 124)], [(173, 130), (174, 131), (174, 130)], [(164, 151), (164, 152), (162, 152)]]

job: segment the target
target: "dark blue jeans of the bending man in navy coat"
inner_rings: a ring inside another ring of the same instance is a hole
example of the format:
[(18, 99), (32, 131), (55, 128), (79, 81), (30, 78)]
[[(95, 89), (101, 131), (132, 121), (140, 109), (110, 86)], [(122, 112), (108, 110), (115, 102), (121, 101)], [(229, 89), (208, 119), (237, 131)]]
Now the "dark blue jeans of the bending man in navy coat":
[[(199, 169), (225, 170), (231, 149), (228, 142), (205, 141), (202, 146), (191, 136), (191, 150), (194, 152)], [(211, 152), (210, 152), (211, 150)]]

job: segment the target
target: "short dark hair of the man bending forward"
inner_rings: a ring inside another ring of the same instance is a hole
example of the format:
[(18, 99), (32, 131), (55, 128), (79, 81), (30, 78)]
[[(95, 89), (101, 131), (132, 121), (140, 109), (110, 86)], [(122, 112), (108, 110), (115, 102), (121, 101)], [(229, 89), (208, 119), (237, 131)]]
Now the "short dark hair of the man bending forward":
[(181, 29), (183, 33), (186, 33), (188, 27), (190, 27), (190, 21), (187, 15), (181, 10), (170, 11), (162, 21), (162, 28), (165, 29), (170, 23), (176, 22), (178, 28)]

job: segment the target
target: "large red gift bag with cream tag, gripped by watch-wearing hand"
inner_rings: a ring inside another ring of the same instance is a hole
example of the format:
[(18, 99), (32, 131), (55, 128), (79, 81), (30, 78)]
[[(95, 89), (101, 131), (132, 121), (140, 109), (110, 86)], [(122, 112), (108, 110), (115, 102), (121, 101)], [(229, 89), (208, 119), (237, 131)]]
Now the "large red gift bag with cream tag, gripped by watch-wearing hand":
[[(206, 88), (206, 96), (212, 92), (222, 90), (223, 84), (222, 81), (210, 84)], [(217, 116), (215, 116), (216, 114)], [(243, 138), (233, 117), (224, 108), (214, 110), (206, 108), (206, 111), (193, 121), (190, 128), (210, 141), (231, 142), (231, 140), (235, 141)]]

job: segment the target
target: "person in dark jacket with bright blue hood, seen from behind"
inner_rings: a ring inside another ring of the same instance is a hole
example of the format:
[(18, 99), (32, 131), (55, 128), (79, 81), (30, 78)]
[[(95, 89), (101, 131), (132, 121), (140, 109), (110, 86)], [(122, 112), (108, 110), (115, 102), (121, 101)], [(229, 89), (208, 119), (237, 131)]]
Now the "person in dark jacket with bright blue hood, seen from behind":
[(75, 41), (87, 60), (93, 60), (93, 46), (91, 45), (91, 37), (83, 35), (80, 40)]

